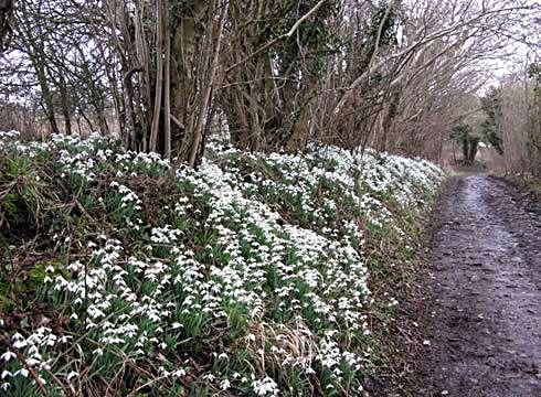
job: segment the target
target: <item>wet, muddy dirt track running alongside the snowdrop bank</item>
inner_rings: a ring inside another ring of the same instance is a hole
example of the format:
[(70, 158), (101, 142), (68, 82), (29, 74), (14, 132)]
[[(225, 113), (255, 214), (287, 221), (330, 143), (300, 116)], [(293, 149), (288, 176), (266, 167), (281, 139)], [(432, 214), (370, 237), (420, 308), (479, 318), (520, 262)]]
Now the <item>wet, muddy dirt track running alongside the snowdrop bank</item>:
[(541, 396), (541, 223), (513, 187), (459, 178), (431, 243), (421, 396)]

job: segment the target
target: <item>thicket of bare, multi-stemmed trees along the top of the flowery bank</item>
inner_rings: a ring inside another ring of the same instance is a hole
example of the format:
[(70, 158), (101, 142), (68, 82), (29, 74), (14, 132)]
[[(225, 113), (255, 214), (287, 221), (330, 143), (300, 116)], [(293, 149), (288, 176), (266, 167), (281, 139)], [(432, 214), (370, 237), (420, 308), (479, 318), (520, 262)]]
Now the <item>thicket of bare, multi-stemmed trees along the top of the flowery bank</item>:
[(6, 92), (38, 95), (52, 131), (82, 119), (192, 165), (218, 115), (248, 150), (319, 142), (438, 159), (486, 63), (510, 41), (534, 46), (522, 34), (533, 10), (526, 0), (20, 0), (23, 62), (4, 63), (17, 78), (0, 78)]

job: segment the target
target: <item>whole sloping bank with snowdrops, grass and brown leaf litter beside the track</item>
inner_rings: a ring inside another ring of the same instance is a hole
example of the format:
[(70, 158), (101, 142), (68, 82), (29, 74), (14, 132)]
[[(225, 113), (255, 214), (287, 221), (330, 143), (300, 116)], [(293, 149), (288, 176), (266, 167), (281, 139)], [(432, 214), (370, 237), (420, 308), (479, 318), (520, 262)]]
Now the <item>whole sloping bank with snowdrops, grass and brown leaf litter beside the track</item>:
[(197, 171), (97, 136), (0, 152), (13, 396), (359, 394), (443, 179), (337, 148), (214, 142)]

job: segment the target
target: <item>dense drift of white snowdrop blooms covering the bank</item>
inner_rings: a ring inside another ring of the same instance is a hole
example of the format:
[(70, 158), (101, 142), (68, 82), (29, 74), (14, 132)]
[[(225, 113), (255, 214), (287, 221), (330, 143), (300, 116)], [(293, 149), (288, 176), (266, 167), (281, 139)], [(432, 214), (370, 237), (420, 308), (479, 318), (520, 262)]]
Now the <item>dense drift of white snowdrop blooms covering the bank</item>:
[[(142, 211), (140, 197), (123, 183), (129, 185), (129, 175), (153, 175), (157, 170), (169, 169), (170, 163), (157, 153), (104, 150), (96, 147), (98, 142), (105, 141), (98, 136), (53, 136), (51, 147), (19, 142), (17, 150), (28, 155), (44, 148), (55, 150), (61, 172), (70, 181), (91, 183), (108, 161), (114, 167), (110, 175), (116, 172), (123, 176), (109, 186), (120, 205)], [(370, 275), (362, 251), (364, 225), (391, 230), (406, 242), (395, 206), (409, 211), (423, 207), (418, 193), (434, 192), (443, 173), (425, 161), (371, 150), (360, 154), (327, 147), (293, 155), (247, 154), (216, 142), (210, 142), (209, 148), (215, 160), (203, 159), (199, 170), (176, 170), (176, 178), (189, 186), (190, 193), (163, 206), (168, 215), (212, 236), (203, 244), (204, 249), (185, 244), (188, 233), (173, 224), (145, 224), (145, 214), (130, 215), (125, 219), (130, 230), (148, 234), (149, 240), (138, 246), (142, 249), (135, 253), (129, 244), (124, 246), (102, 234), (86, 244), (88, 257), (65, 267), (68, 275), (47, 266), (44, 282), (68, 297), (70, 319), (77, 321), (86, 310), (85, 325), (96, 334), (99, 346), (126, 348), (130, 357), (144, 357), (152, 350), (162, 358), (160, 374), (165, 376), (185, 375), (185, 371), (170, 372), (166, 365), (167, 355), (160, 352), (167, 348), (165, 334), (172, 330), (168, 336), (183, 335), (190, 316), (229, 323), (229, 309), (234, 304), (248, 324), (272, 326), (277, 335), (276, 341), (263, 344), (267, 335), (246, 331), (244, 342), (253, 352), (283, 366), (298, 367), (306, 376), (315, 374), (314, 368), (322, 368), (329, 377), (322, 387), (333, 389), (333, 384), (343, 382), (344, 366), (360, 372), (373, 354), (370, 347), (349, 352), (342, 343), (353, 334), (370, 335), (365, 313), (374, 298), (368, 288)], [(247, 161), (272, 169), (276, 178), (257, 167), (246, 173)], [(390, 196), (395, 205), (388, 207), (382, 197)], [(103, 197), (97, 200), (104, 203)], [(280, 210), (285, 205), (289, 212), (291, 203), (299, 212), (295, 222), (284, 218)], [(343, 208), (354, 212), (356, 217), (340, 216)], [(397, 304), (394, 298), (388, 299), (390, 307)], [(314, 344), (311, 352), (317, 353), (291, 353), (279, 337), (282, 324), (263, 325), (269, 315), (269, 301), (278, 302), (272, 310), (306, 328), (299, 341)], [(318, 324), (325, 332), (311, 333), (307, 323)], [(45, 368), (54, 363), (51, 355), (55, 346), (67, 342), (64, 336), (40, 329), (29, 337), (13, 335), (12, 343), (24, 350), (28, 365)], [(104, 355), (104, 348), (95, 348), (93, 355)], [(234, 354), (227, 345), (223, 351), (214, 353), (212, 360), (229, 360)], [(0, 358), (6, 362), (14, 356), (8, 351)], [(78, 377), (72, 368), (63, 371), (67, 375), (63, 373), (61, 378), (71, 382)], [(11, 377), (8, 373), (6, 378)], [(221, 378), (223, 374), (206, 372), (201, 376), (221, 389), (232, 388), (229, 379)], [(231, 379), (259, 396), (279, 394), (273, 378), (257, 378), (251, 371), (235, 373)]]

